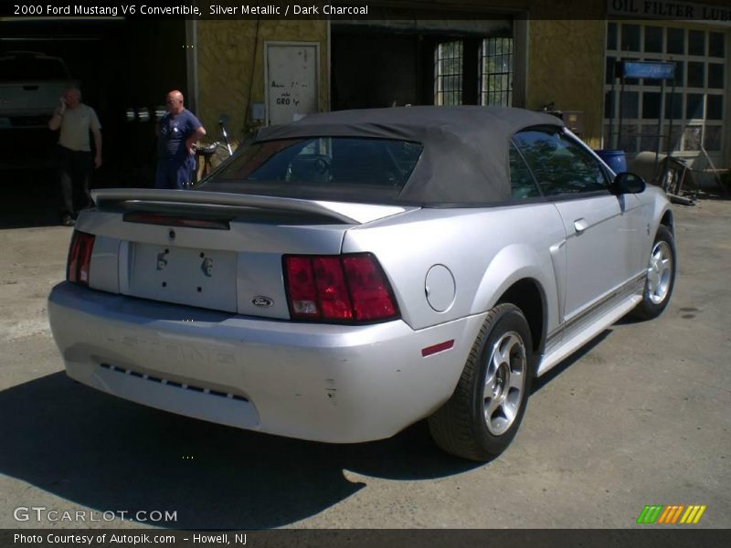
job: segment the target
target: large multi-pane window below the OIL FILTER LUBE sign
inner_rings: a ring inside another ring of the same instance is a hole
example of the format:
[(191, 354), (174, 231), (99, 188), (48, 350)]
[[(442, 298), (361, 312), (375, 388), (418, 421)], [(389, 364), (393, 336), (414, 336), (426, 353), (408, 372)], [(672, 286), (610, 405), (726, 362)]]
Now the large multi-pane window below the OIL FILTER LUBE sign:
[[(701, 150), (723, 150), (726, 116), (726, 33), (658, 24), (609, 22), (604, 100), (604, 146), (627, 153), (660, 150), (692, 156)], [(620, 105), (620, 79), (614, 81), (620, 59), (673, 61), (675, 90), (660, 80), (625, 79)], [(612, 92), (612, 83), (615, 83)], [(664, 102), (662, 102), (664, 99)], [(622, 114), (621, 133), (619, 116)], [(662, 111), (662, 126), (658, 118)], [(613, 114), (613, 122), (610, 120)], [(670, 119), (673, 118), (671, 132)], [(612, 134), (610, 134), (610, 132)]]

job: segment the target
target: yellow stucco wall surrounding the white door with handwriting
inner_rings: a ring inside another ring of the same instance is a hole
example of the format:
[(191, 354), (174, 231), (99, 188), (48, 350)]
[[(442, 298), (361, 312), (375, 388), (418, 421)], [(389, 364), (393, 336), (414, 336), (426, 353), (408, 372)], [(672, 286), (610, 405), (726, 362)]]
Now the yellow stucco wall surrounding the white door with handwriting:
[[(196, 26), (198, 111), (208, 141), (220, 140), (218, 118), (228, 114), (228, 134), (240, 142), (254, 129), (251, 103), (264, 102), (264, 42), (320, 44), (320, 111), (327, 110), (327, 23), (323, 20), (201, 20)], [(252, 66), (253, 65), (253, 66)]]

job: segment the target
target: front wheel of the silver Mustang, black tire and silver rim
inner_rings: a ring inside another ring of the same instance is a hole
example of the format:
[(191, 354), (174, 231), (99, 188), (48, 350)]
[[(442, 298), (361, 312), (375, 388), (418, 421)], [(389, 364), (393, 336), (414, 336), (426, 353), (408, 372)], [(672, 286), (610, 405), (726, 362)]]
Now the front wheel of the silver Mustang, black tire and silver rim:
[[(656, 268), (659, 254), (670, 260), (667, 269)], [(637, 308), (632, 311), (633, 316), (641, 320), (652, 320), (662, 314), (662, 311), (670, 302), (671, 295), (673, 295), (675, 268), (675, 238), (673, 238), (673, 233), (668, 227), (661, 225), (652, 242), (647, 266), (647, 279), (645, 280), (644, 290), (642, 290), (642, 300)]]

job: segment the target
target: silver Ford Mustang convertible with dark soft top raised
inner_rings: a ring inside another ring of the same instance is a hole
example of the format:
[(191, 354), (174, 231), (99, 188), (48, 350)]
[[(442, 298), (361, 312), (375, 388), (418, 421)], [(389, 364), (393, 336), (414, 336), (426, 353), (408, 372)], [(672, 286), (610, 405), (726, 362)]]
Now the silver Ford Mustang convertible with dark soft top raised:
[(315, 114), (193, 190), (94, 200), (48, 299), (69, 376), (280, 436), (428, 418), (441, 448), (491, 458), (536, 375), (673, 291), (664, 195), (533, 111)]

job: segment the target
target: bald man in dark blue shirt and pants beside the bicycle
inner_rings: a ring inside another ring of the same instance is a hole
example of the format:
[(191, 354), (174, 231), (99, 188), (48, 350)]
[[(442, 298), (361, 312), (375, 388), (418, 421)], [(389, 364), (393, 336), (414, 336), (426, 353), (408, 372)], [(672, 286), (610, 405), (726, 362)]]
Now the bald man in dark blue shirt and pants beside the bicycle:
[(196, 169), (196, 142), (206, 134), (193, 112), (183, 106), (183, 94), (173, 90), (165, 100), (167, 114), (157, 124), (155, 188), (186, 188)]

